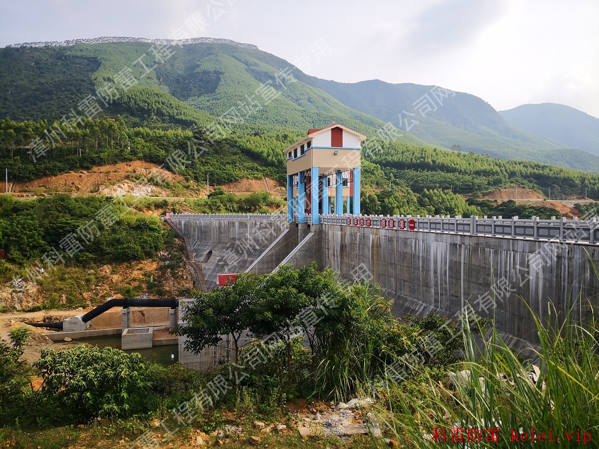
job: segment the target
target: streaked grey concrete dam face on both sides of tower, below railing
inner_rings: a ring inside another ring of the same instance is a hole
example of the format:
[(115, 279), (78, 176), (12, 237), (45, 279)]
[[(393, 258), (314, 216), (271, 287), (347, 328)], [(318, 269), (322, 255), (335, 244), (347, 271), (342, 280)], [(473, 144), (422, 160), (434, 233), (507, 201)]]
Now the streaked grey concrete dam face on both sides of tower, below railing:
[[(274, 221), (262, 229), (256, 220), (173, 221), (194, 245), (197, 260), (214, 248), (204, 265), (211, 285), (219, 272), (243, 271), (256, 259), (252, 271), (262, 273), (279, 259), (295, 266), (315, 260), (345, 278), (380, 284), (394, 299), (398, 318), (432, 311), (452, 316), (470, 304), (477, 314), (494, 317), (503, 332), (531, 342), (537, 336), (529, 307), (546, 320), (550, 301), (561, 317), (570, 309), (576, 318), (588, 317), (589, 304), (598, 305), (591, 260), (599, 265), (599, 247), (593, 245)], [(261, 251), (247, 251), (235, 266), (220, 262), (220, 251), (238, 245), (237, 238), (252, 242), (256, 236)]]

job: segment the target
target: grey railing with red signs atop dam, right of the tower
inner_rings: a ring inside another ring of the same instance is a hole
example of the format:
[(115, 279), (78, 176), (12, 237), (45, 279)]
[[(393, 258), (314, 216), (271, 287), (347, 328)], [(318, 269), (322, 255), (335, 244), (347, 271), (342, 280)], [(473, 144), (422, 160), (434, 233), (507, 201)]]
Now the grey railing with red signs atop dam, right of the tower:
[[(306, 216), (306, 222), (309, 223)], [(500, 217), (473, 216), (464, 219), (456, 217), (412, 217), (412, 216), (353, 216), (319, 215), (323, 225), (341, 225), (355, 227), (379, 227), (381, 229), (419, 230), (425, 232), (457, 233), (467, 235), (485, 235), (493, 237), (530, 238), (535, 240), (553, 240), (560, 242), (584, 242), (599, 244), (599, 222), (591, 220), (555, 219), (531, 220), (503, 219)]]

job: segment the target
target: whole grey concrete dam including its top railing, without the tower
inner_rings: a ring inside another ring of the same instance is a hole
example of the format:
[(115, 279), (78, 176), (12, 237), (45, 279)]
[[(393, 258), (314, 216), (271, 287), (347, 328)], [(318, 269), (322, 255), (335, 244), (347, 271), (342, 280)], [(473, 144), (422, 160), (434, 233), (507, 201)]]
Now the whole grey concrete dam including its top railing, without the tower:
[(379, 284), (397, 318), (452, 317), (469, 304), (502, 332), (531, 342), (529, 307), (546, 320), (550, 301), (562, 317), (568, 310), (589, 317), (598, 305), (594, 221), (321, 214), (315, 225), (287, 218), (170, 214), (167, 222), (184, 237), (208, 289), (219, 273), (265, 274), (316, 261), (347, 280)]

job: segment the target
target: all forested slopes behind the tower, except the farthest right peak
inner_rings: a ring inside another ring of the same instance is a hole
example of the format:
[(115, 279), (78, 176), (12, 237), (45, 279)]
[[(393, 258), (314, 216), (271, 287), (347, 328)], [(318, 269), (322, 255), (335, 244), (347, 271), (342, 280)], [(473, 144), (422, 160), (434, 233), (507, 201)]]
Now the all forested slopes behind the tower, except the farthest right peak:
[[(207, 175), (216, 185), (241, 178), (285, 181), (282, 148), (306, 129), (335, 121), (368, 136), (367, 189), (391, 183), (419, 194), (444, 189), (471, 195), (516, 185), (550, 188), (554, 199), (584, 189), (591, 198), (598, 194), (596, 175), (494, 159), (530, 157), (599, 172), (599, 157), (565, 151), (515, 128), (464, 93), (382, 81), (325, 82), (272, 54), (230, 44), (2, 48), (0, 62), (6, 86), (0, 117), (19, 120), (0, 121), (0, 157), (12, 181), (135, 159), (176, 171), (189, 183), (204, 183)], [(436, 103), (420, 117), (413, 103), (423, 93)], [(404, 131), (408, 117), (410, 133)], [(390, 129), (388, 121), (401, 130)], [(426, 144), (411, 134), (417, 131), (458, 151)]]

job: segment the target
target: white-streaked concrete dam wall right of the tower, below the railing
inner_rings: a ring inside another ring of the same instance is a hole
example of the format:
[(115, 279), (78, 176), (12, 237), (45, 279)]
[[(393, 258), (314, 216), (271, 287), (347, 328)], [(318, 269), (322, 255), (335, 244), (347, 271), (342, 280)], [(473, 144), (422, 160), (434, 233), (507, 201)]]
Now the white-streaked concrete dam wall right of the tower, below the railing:
[(337, 225), (312, 232), (319, 268), (380, 284), (396, 317), (452, 316), (470, 304), (503, 332), (536, 341), (529, 307), (546, 320), (549, 301), (562, 317), (570, 308), (573, 317), (588, 317), (589, 301), (599, 305), (594, 245)]

